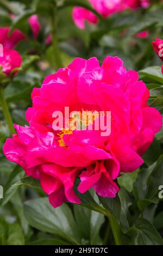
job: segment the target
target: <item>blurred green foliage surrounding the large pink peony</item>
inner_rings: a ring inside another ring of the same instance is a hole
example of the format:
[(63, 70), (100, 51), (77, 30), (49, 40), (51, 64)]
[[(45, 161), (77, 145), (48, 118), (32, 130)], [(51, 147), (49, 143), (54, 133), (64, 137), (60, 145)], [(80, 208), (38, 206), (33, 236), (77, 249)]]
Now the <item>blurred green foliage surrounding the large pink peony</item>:
[[(19, 28), (28, 37), (16, 46), (23, 57), (22, 69), (5, 88), (14, 123), (27, 124), (24, 113), (31, 105), (32, 89), (40, 87), (43, 78), (55, 70), (53, 46), (46, 45), (45, 40), (51, 31), (51, 10), (56, 5), (62, 65), (74, 57), (96, 56), (102, 62), (109, 54), (118, 56), (127, 69), (139, 71), (151, 92), (149, 105), (162, 113), (161, 61), (151, 42), (156, 37), (163, 38), (163, 6), (160, 1), (154, 2), (148, 9), (125, 11), (105, 20), (99, 17), (97, 26), (87, 23), (82, 31), (74, 26), (71, 13), (74, 5), (90, 9), (85, 0), (1, 0), (0, 26), (11, 26), (11, 31)], [(9, 13), (16, 14), (16, 20)], [(35, 13), (41, 23), (38, 40), (33, 39), (27, 22)], [(135, 34), (145, 29), (149, 38), (136, 38)], [(112, 223), (120, 224), (124, 244), (163, 245), (163, 202), (158, 197), (158, 188), (163, 185), (162, 130), (143, 156), (143, 166), (118, 178), (121, 190), (116, 198), (97, 197), (90, 191), (83, 194), (82, 205), (64, 204), (54, 209), (39, 182), (26, 178), (19, 166), (5, 159), (2, 147), (9, 131), (1, 109), (0, 129), (0, 184), (4, 187), (4, 198), (0, 199), (0, 245), (113, 245), (116, 237), (112, 235)]]

